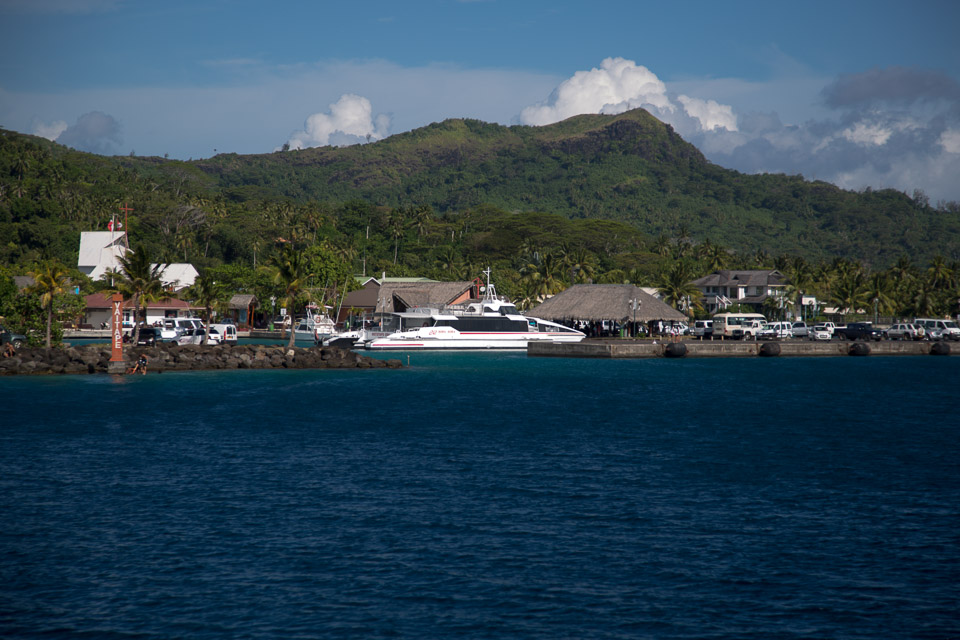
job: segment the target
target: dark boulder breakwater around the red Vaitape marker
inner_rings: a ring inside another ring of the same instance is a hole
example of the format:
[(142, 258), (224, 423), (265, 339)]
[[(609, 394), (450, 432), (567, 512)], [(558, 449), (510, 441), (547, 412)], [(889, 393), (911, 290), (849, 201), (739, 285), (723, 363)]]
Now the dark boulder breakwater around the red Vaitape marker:
[(277, 345), (199, 346), (160, 344), (128, 347), (124, 362), (110, 362), (108, 345), (93, 344), (59, 349), (23, 348), (0, 359), (0, 375), (124, 373), (140, 355), (147, 357), (148, 373), (211, 369), (396, 369), (399, 360), (378, 360), (337, 348)]

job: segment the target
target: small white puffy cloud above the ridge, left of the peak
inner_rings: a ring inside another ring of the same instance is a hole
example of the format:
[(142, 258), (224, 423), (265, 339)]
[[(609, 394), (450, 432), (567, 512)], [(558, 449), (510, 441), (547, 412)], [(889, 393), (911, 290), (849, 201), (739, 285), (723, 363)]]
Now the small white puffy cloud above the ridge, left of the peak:
[(303, 130), (294, 132), (287, 144), (291, 149), (357, 144), (380, 140), (387, 135), (389, 127), (388, 116), (373, 117), (369, 100), (347, 93), (330, 105), (329, 113), (309, 116)]

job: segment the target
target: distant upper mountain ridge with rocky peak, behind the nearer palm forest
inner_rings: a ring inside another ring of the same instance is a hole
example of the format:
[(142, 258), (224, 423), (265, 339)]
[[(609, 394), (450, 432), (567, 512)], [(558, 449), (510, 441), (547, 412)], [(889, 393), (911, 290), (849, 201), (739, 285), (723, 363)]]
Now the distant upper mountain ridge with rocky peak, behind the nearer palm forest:
[(746, 175), (708, 162), (642, 109), (545, 127), (446, 120), (380, 142), (196, 163), (223, 193), (295, 201), (364, 199), (444, 212), (491, 204), (617, 220), (651, 235), (685, 229), (737, 251), (877, 265), (956, 255), (957, 209), (895, 190), (844, 191), (802, 176)]

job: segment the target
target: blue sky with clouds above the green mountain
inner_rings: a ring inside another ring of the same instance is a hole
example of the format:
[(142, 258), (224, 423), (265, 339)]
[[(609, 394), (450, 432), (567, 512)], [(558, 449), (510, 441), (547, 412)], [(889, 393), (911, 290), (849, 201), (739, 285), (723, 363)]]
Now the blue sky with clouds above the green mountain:
[(0, 127), (108, 154), (642, 106), (709, 159), (960, 200), (960, 3), (0, 0)]

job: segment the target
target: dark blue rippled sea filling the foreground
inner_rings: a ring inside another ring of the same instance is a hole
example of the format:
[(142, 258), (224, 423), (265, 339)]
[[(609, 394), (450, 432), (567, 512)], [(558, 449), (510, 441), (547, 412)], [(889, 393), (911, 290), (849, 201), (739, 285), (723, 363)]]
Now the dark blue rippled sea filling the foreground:
[(0, 378), (0, 637), (958, 638), (958, 392), (932, 356)]

